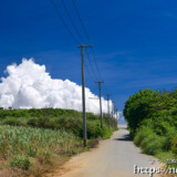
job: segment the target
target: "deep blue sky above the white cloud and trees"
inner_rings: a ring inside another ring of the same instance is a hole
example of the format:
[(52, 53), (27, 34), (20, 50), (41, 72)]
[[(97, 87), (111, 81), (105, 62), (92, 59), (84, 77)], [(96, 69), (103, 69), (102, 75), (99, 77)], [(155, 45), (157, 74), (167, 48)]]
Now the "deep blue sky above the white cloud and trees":
[[(61, 0), (55, 2), (74, 33)], [(72, 0), (65, 2), (86, 39)], [(119, 111), (139, 88), (176, 87), (177, 1), (75, 0), (75, 3), (95, 46), (102, 77)], [(34, 58), (37, 63), (45, 64), (53, 79), (81, 84), (80, 51), (50, 0), (1, 0), (0, 76), (8, 64), (20, 63), (22, 58)], [(97, 86), (85, 74), (86, 86), (97, 94)]]

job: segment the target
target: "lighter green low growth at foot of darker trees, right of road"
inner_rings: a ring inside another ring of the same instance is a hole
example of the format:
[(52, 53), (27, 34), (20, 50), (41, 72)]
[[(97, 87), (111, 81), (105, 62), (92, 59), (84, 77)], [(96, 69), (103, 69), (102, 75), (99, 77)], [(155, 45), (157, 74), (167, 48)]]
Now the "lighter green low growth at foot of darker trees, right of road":
[[(159, 136), (144, 125), (137, 129), (134, 143), (142, 148), (143, 153), (154, 155), (166, 164), (166, 168), (177, 168), (177, 135), (173, 128), (164, 136)], [(174, 160), (175, 163), (170, 163)]]

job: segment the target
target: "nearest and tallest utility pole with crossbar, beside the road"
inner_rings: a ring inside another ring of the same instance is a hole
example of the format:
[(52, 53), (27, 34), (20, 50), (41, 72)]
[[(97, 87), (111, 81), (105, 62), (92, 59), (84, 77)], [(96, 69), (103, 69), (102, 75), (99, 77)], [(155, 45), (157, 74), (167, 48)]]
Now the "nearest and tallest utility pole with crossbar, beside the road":
[(77, 45), (81, 49), (81, 63), (82, 63), (82, 106), (83, 106), (83, 138), (84, 146), (87, 146), (87, 136), (86, 136), (86, 113), (85, 113), (85, 79), (84, 79), (84, 51), (86, 48), (93, 48), (93, 45)]

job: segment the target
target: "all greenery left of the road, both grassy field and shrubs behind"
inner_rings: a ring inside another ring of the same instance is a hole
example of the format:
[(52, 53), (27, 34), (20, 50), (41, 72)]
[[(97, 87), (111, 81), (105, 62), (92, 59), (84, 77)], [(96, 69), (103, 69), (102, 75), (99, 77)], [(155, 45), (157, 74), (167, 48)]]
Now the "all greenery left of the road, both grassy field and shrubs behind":
[[(97, 138), (110, 138), (116, 129), (115, 125), (108, 128), (106, 115), (104, 132), (100, 116), (87, 113), (86, 117), (88, 147), (95, 147)], [(39, 171), (51, 168), (59, 157), (66, 159), (84, 150), (82, 137), (82, 114), (76, 111), (0, 110), (0, 166), (40, 176)]]

